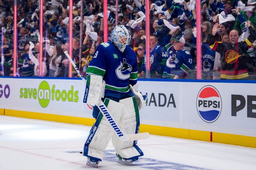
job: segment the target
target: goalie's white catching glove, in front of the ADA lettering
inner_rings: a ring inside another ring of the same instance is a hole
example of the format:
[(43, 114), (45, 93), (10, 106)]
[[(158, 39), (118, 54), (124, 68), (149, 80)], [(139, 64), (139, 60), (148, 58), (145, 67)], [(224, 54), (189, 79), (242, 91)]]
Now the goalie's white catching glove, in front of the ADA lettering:
[(130, 90), (133, 93), (133, 96), (135, 97), (138, 105), (138, 109), (141, 110), (143, 107), (145, 107), (148, 104), (148, 96), (142, 95), (139, 91), (139, 84), (136, 85), (130, 85)]

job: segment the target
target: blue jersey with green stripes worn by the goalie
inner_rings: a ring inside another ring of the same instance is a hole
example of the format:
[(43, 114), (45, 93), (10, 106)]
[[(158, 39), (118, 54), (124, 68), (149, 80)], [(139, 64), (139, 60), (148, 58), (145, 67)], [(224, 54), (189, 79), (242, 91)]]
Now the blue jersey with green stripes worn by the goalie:
[(99, 75), (106, 82), (105, 93), (128, 93), (137, 83), (137, 57), (129, 46), (124, 53), (112, 42), (101, 43), (89, 63), (86, 75)]

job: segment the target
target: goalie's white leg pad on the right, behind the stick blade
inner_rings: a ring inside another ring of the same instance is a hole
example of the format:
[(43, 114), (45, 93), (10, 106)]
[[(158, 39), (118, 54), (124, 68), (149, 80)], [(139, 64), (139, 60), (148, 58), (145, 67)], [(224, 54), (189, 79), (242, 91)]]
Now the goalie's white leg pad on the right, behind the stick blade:
[[(135, 97), (120, 100), (119, 103), (124, 104), (123, 116), (119, 122), (120, 128), (126, 134), (139, 133), (140, 117)], [(113, 135), (112, 143), (117, 155), (124, 159), (137, 160), (138, 157), (143, 156), (143, 152), (136, 145), (137, 141), (121, 141)]]

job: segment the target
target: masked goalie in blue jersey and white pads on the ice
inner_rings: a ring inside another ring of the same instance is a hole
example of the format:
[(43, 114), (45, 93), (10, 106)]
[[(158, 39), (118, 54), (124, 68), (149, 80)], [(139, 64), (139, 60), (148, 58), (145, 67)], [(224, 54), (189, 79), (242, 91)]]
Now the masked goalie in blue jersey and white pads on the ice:
[(146, 106), (147, 96), (138, 92), (137, 57), (127, 46), (130, 39), (129, 31), (117, 25), (111, 32), (111, 42), (97, 47), (86, 70), (88, 90), (84, 103), (94, 106), (92, 115), (96, 119), (84, 144), (83, 154), (89, 166), (98, 167), (111, 137), (118, 163), (132, 165), (132, 161), (143, 156), (137, 141), (123, 142), (113, 135), (113, 128), (95, 106), (102, 100), (125, 133), (139, 133), (139, 110)]

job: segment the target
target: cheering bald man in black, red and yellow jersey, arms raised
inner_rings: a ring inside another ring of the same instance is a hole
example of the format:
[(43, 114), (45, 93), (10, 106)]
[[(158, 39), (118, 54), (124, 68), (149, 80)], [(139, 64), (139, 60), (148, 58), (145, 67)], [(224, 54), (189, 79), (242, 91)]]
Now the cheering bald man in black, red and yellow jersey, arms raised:
[(251, 21), (247, 21), (247, 26), (250, 35), (245, 41), (241, 42), (238, 42), (239, 34), (236, 30), (230, 31), (230, 42), (215, 41), (216, 33), (220, 28), (218, 28), (218, 23), (213, 26), (212, 34), (208, 37), (207, 42), (213, 50), (220, 53), (220, 79), (248, 78), (249, 75), (247, 69), (250, 67), (250, 56), (246, 54), (246, 52), (250, 46), (252, 46), (253, 41), (255, 41), (256, 34)]

